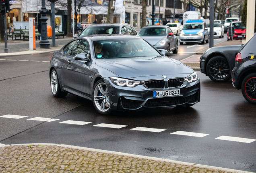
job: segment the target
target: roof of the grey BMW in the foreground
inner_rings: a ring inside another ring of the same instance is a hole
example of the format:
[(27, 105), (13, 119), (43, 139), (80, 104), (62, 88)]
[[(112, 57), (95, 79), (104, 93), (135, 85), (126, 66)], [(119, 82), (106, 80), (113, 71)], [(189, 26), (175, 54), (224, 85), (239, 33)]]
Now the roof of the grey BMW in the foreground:
[(130, 38), (130, 39), (142, 39), (140, 36), (134, 36), (134, 35), (129, 35), (129, 34), (100, 34), (100, 35), (88, 35), (88, 36), (83, 36), (83, 37), (78, 37), (79, 39), (81, 38), (89, 38), (92, 41), (98, 41), (98, 40), (109, 40), (109, 39), (125, 39), (125, 38)]

